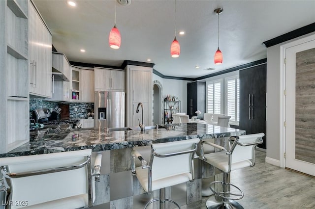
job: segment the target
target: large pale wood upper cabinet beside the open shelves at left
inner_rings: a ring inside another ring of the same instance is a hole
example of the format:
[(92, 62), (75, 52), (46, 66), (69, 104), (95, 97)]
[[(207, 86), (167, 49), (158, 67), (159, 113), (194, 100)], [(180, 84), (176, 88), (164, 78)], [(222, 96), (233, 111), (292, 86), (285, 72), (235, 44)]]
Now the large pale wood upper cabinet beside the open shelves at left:
[(29, 91), (32, 95), (52, 97), (51, 51), (51, 33), (29, 1)]

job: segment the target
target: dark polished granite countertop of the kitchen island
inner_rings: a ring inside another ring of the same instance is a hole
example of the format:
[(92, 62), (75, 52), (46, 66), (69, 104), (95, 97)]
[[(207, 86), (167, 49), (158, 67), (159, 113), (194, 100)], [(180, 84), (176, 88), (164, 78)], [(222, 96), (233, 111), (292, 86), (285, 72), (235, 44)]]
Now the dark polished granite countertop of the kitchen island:
[(219, 127), (209, 124), (184, 123), (141, 131), (112, 131), (101, 129), (69, 129), (61, 127), (59, 132), (31, 133), (31, 140), (0, 157), (16, 157), (46, 153), (92, 149), (93, 152), (146, 146), (152, 143), (179, 141), (191, 138), (221, 138), (245, 134), (244, 130)]

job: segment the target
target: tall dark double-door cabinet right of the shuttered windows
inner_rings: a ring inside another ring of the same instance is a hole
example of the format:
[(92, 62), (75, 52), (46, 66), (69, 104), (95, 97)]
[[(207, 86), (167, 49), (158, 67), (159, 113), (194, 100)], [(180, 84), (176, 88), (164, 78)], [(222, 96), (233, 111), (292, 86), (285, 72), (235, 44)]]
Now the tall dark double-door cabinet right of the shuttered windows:
[(247, 134), (263, 132), (266, 149), (266, 64), (240, 70), (240, 127)]

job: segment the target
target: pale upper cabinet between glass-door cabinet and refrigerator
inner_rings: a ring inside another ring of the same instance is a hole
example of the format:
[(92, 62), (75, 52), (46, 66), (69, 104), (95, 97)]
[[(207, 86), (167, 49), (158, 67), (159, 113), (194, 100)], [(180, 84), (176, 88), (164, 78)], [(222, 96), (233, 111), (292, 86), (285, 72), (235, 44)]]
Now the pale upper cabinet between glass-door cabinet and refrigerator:
[[(94, 103), (94, 71), (81, 70), (81, 102)], [(94, 125), (93, 125), (94, 127)]]

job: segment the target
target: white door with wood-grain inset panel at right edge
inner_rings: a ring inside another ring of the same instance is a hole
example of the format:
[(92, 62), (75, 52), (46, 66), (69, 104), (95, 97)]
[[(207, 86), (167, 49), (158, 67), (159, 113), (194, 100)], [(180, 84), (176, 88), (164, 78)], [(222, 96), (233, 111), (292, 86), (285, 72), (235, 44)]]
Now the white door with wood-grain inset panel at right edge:
[(285, 167), (315, 176), (315, 40), (285, 56)]

